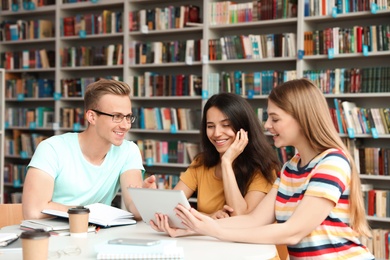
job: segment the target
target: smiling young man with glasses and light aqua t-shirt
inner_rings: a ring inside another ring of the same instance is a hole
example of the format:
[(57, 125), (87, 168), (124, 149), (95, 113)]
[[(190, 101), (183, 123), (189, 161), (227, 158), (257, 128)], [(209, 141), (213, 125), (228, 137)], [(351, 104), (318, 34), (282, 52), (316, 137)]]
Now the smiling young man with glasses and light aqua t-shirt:
[[(142, 180), (139, 148), (125, 139), (136, 120), (130, 87), (115, 80), (94, 82), (85, 91), (84, 108), (85, 131), (52, 136), (34, 152), (23, 187), (25, 219), (47, 217), (43, 209), (110, 205), (119, 188), (156, 188), (154, 176)], [(123, 192), (122, 198), (139, 219), (129, 194)]]

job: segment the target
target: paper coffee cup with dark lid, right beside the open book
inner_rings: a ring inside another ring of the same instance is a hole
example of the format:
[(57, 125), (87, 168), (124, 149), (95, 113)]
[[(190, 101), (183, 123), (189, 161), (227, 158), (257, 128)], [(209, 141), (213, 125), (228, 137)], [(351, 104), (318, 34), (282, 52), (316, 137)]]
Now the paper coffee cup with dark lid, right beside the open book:
[(89, 209), (85, 207), (70, 208), (69, 228), (72, 237), (87, 237)]

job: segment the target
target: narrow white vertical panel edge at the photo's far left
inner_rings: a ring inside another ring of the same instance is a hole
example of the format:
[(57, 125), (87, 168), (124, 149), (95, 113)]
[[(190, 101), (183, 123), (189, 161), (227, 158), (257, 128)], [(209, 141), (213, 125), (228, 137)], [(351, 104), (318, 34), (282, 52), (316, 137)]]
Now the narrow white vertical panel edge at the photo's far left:
[[(0, 89), (4, 89), (5, 84), (5, 70), (0, 69)], [(3, 92), (0, 93), (0, 173), (4, 172), (4, 95)], [(3, 194), (4, 194), (4, 178), (3, 174), (0, 179), (0, 204), (3, 203)]]

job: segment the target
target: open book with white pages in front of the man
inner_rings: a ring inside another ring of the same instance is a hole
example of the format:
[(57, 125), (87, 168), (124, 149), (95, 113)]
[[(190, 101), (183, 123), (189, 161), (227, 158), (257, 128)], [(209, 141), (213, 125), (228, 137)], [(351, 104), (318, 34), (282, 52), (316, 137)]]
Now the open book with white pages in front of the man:
[[(86, 205), (86, 208), (89, 208), (89, 223), (95, 224), (103, 227), (111, 226), (121, 226), (121, 225), (132, 225), (137, 223), (134, 220), (134, 215), (126, 210), (118, 209), (112, 206), (108, 206), (102, 203), (94, 203)], [(67, 212), (53, 210), (53, 209), (44, 209), (42, 213), (69, 218)]]

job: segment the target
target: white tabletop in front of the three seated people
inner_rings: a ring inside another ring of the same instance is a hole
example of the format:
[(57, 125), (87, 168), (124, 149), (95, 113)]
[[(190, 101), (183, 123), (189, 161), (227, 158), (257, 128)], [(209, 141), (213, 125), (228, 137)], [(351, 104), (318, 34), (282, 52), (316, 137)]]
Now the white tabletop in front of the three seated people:
[[(21, 233), (19, 226), (8, 226), (0, 230), (2, 233)], [(70, 236), (51, 236), (49, 241), (49, 252), (63, 250), (69, 247), (81, 248), (81, 254), (77, 257), (61, 256), (60, 259), (96, 259), (96, 245), (107, 242), (113, 238), (152, 238), (152, 239), (174, 239), (177, 246), (183, 247), (184, 259), (186, 260), (260, 260), (271, 259), (276, 255), (274, 245), (244, 244), (224, 242), (208, 236), (190, 236), (171, 238), (165, 233), (158, 233), (143, 222), (136, 225), (111, 227), (101, 229), (97, 234), (88, 233), (88, 238), (74, 238)], [(20, 260), (21, 250), (3, 252), (0, 259)]]

